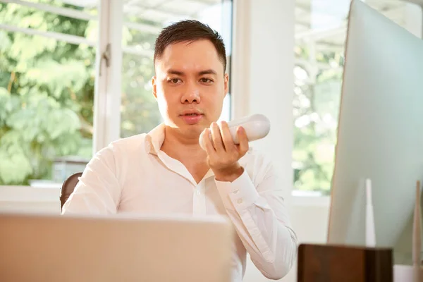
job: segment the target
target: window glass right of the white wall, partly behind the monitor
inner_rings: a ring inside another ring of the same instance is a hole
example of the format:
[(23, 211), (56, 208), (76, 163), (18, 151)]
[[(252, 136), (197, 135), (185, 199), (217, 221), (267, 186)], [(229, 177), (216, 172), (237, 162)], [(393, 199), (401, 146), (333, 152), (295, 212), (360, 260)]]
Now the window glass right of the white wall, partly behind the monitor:
[[(422, 35), (422, 10), (399, 0), (367, 4), (415, 35)], [(349, 0), (296, 0), (293, 114), (294, 186), (329, 194)]]

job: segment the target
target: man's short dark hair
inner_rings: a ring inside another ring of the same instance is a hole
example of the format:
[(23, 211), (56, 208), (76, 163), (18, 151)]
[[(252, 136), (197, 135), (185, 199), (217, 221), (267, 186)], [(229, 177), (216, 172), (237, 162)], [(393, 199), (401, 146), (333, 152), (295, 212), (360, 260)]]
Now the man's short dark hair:
[(219, 59), (223, 63), (223, 72), (226, 71), (226, 50), (222, 37), (209, 25), (200, 23), (198, 20), (181, 20), (161, 30), (154, 47), (154, 63), (163, 55), (164, 49), (168, 45), (179, 42), (194, 42), (201, 39), (212, 42)]

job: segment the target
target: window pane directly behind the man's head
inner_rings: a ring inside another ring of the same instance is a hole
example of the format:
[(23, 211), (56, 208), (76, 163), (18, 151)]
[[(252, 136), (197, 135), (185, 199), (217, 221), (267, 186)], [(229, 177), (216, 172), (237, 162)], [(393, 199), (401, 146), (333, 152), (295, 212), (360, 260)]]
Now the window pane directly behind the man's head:
[[(163, 27), (182, 19), (197, 19), (217, 30), (231, 59), (232, 1), (129, 1), (123, 7), (123, 75), (121, 137), (147, 133), (162, 122), (152, 95), (154, 42)], [(230, 119), (231, 94), (221, 119)]]

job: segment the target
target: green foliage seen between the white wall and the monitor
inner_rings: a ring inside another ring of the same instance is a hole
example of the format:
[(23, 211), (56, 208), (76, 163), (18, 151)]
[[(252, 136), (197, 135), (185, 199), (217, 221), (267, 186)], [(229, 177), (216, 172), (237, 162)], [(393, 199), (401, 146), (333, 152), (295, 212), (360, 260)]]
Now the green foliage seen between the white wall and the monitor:
[[(305, 47), (295, 50), (298, 58), (308, 59)], [(316, 55), (320, 63), (343, 65), (342, 56), (335, 52)], [(341, 98), (339, 69), (319, 70), (312, 82), (295, 83), (294, 95), (294, 185), (299, 190), (314, 190), (329, 194), (333, 174), (338, 108)]]

